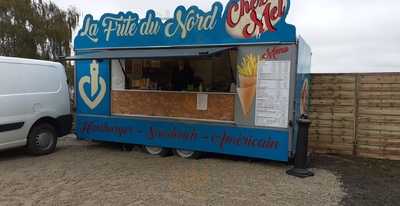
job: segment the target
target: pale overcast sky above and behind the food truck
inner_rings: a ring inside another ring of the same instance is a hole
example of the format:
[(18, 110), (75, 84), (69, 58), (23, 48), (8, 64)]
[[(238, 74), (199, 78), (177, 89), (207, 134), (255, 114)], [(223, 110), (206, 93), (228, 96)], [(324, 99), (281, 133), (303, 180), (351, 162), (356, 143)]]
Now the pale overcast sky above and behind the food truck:
[[(213, 0), (52, 0), (74, 6), (95, 19), (103, 13), (132, 11), (142, 17), (154, 9), (162, 17), (178, 5), (209, 10)], [(223, 4), (227, 0), (221, 0)], [(312, 71), (400, 72), (399, 0), (292, 0), (287, 22), (297, 27), (313, 50)], [(81, 20), (83, 17), (81, 18)]]

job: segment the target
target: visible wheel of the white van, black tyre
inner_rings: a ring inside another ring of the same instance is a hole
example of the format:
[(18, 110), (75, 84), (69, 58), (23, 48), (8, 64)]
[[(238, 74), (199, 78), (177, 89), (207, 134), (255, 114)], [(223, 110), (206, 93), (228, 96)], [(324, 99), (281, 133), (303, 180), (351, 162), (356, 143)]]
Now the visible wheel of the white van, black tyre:
[(28, 136), (28, 151), (32, 155), (46, 155), (54, 152), (57, 146), (57, 133), (51, 124), (34, 126)]

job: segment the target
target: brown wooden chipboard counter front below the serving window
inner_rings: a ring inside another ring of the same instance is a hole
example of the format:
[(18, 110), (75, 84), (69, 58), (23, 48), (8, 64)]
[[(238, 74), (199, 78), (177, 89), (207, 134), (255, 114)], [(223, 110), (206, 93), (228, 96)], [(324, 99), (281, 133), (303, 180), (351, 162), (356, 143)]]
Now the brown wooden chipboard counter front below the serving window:
[(112, 91), (112, 113), (234, 121), (235, 95), (209, 94), (208, 110), (197, 110), (196, 93)]

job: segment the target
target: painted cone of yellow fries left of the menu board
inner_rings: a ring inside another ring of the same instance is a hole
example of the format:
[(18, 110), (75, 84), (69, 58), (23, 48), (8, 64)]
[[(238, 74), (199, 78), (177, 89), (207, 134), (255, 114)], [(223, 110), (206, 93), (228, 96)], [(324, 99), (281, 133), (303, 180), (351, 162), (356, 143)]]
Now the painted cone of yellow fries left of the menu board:
[(250, 117), (251, 108), (256, 96), (257, 85), (257, 56), (250, 54), (242, 59), (238, 66), (240, 87), (238, 94), (242, 111), (246, 118)]

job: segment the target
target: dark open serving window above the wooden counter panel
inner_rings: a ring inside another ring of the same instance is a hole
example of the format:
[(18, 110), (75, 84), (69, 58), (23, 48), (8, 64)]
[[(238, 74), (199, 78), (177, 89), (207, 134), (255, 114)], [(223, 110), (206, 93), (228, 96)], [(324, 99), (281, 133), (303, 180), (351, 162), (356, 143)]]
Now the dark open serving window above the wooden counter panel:
[(236, 52), (213, 56), (118, 60), (124, 90), (235, 92)]

